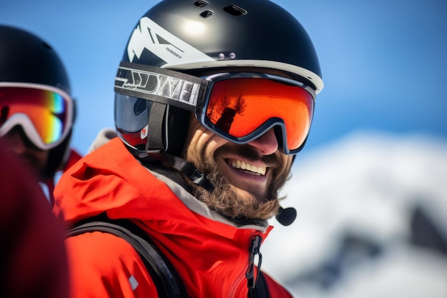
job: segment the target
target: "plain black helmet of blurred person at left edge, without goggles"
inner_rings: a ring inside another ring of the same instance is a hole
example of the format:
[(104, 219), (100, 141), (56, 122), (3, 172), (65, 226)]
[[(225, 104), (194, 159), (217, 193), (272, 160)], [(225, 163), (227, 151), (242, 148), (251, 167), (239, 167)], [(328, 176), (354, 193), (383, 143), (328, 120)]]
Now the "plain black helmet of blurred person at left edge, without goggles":
[[(13, 26), (0, 25), (0, 82), (46, 85), (71, 96), (69, 76), (56, 51), (38, 36)], [(71, 119), (74, 122), (74, 115)], [(64, 141), (49, 150), (46, 175), (63, 167), (70, 139), (71, 129)]]

